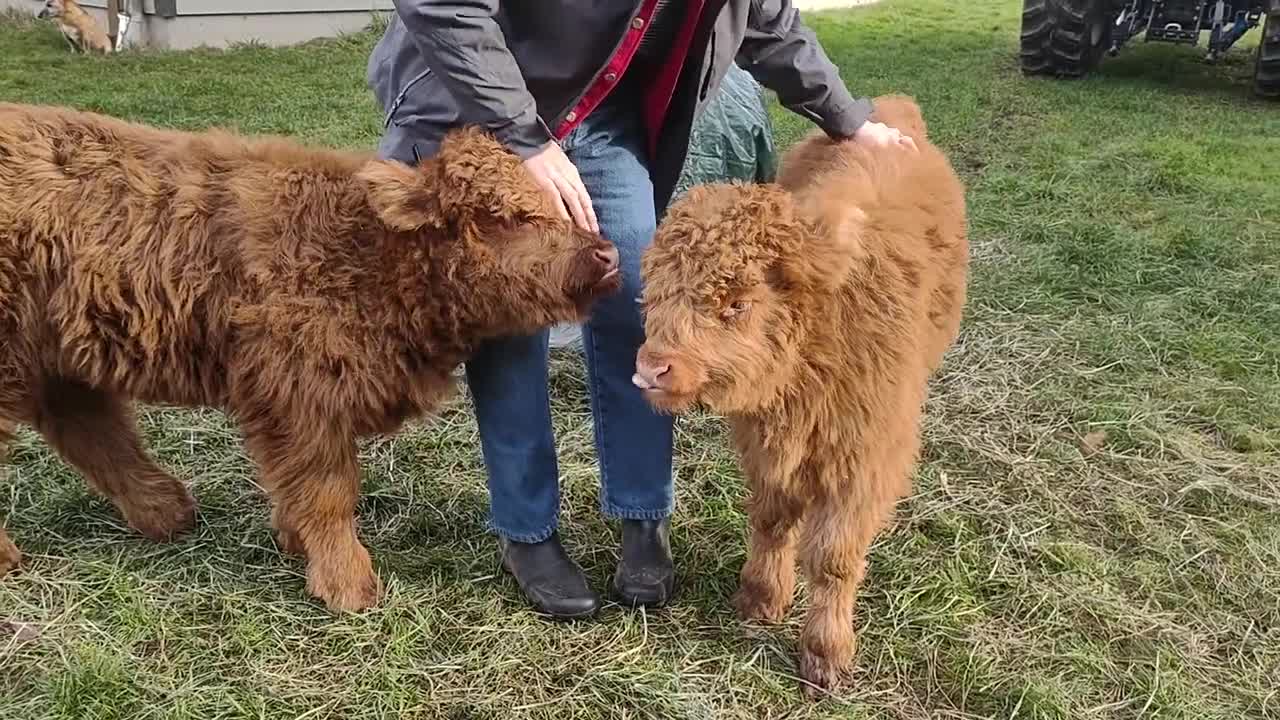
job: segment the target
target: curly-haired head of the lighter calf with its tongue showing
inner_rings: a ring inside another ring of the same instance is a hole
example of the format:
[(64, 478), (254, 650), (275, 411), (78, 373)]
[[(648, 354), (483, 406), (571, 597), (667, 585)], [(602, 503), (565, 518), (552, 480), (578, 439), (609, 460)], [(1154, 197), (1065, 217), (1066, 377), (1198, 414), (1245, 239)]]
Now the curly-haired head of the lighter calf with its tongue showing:
[(690, 191), (643, 260), (636, 387), (669, 413), (751, 413), (777, 400), (854, 266), (864, 220), (852, 205), (800, 208), (777, 186)]

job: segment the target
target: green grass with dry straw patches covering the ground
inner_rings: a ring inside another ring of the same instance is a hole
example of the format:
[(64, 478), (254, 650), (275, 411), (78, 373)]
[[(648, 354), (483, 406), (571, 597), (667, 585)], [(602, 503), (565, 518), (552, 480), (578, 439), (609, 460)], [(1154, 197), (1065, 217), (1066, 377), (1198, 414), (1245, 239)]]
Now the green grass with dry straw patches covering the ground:
[[(860, 94), (902, 91), (969, 183), (974, 274), (915, 495), (874, 547), (856, 674), (801, 700), (804, 609), (728, 609), (742, 482), (722, 423), (680, 424), (678, 605), (548, 624), (497, 571), (463, 402), (369, 445), (381, 607), (330, 618), (276, 552), (234, 429), (151, 411), (197, 530), (150, 544), (23, 434), (0, 506), (0, 717), (1280, 717), (1280, 108), (1135, 45), (1025, 79), (1012, 0), (812, 15)], [(76, 58), (0, 24), (0, 99), (371, 147), (372, 42)], [(1256, 42), (1256, 40), (1253, 40)], [(776, 113), (786, 143), (806, 129)], [(552, 378), (563, 527), (603, 588), (582, 373)]]

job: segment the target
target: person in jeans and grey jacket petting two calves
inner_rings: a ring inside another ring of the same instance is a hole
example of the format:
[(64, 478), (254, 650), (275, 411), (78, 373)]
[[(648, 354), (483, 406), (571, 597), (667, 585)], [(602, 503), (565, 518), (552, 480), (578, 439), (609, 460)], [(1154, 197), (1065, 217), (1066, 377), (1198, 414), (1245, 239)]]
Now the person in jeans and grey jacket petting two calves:
[[(790, 0), (396, 0), (369, 58), (385, 110), (379, 155), (416, 163), (461, 124), (509, 147), (566, 218), (621, 255), (622, 291), (582, 333), (600, 507), (622, 525), (613, 592), (671, 598), (672, 419), (631, 383), (644, 341), (640, 256), (689, 151), (694, 119), (736, 63), (835, 138), (910, 138), (869, 122)], [(548, 332), (492, 341), (466, 365), (502, 565), (559, 618), (599, 596), (557, 534), (559, 471), (547, 387)]]

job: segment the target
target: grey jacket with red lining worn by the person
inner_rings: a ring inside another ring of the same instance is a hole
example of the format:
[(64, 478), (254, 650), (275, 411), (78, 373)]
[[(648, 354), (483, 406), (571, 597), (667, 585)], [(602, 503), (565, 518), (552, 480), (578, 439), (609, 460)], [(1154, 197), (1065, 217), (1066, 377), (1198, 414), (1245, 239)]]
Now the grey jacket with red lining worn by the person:
[[(369, 85), (387, 113), (380, 152), (411, 161), (458, 124), (485, 127), (521, 156), (552, 140), (603, 72), (639, 14), (637, 0), (394, 0), (369, 58)], [(731, 63), (792, 111), (847, 137), (870, 114), (800, 20), (790, 0), (708, 0), (650, 158), (654, 202), (667, 204), (694, 118)]]

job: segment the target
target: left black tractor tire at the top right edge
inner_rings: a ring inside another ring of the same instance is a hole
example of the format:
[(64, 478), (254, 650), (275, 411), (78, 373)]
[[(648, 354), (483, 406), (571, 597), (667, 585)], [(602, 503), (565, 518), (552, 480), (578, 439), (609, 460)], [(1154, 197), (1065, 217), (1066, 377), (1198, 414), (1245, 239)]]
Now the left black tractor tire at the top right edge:
[(1023, 73), (1087, 76), (1111, 44), (1110, 5), (1110, 0), (1023, 0)]

